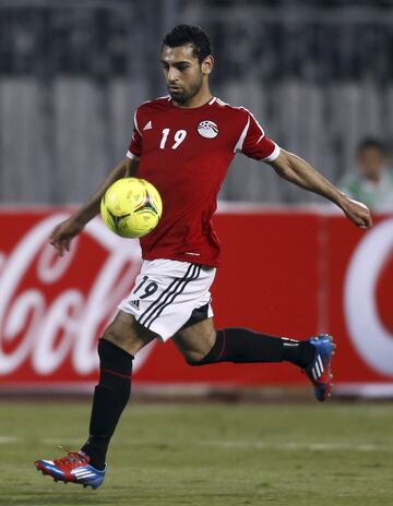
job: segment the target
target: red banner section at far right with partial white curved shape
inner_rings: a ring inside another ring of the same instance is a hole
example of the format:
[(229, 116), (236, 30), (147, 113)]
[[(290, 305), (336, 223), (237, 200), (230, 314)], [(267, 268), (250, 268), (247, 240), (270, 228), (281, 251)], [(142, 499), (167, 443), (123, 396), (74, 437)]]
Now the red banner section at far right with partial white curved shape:
[(393, 393), (393, 217), (366, 233), (325, 219), (326, 321), (341, 383), (379, 383)]

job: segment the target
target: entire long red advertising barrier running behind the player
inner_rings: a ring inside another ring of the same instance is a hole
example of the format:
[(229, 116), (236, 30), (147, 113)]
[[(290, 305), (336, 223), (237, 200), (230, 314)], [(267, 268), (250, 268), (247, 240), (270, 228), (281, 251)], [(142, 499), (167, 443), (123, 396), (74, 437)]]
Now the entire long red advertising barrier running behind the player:
[[(140, 267), (136, 241), (97, 218), (63, 258), (48, 245), (69, 209), (0, 210), (0, 388), (92, 390), (96, 340)], [(223, 263), (212, 290), (217, 327), (305, 338), (331, 333), (338, 393), (393, 395), (393, 218), (365, 232), (324, 208), (230, 207), (215, 217)], [(190, 368), (172, 342), (134, 366), (138, 387), (306, 385), (290, 364)]]

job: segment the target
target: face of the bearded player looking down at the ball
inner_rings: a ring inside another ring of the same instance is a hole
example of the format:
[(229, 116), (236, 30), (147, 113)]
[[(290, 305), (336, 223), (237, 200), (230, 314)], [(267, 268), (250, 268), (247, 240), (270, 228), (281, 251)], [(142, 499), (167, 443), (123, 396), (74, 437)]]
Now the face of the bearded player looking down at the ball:
[[(209, 58), (209, 57), (207, 57)], [(163, 47), (162, 65), (169, 95), (178, 104), (186, 105), (201, 91), (205, 63), (193, 56), (190, 44), (179, 47)]]

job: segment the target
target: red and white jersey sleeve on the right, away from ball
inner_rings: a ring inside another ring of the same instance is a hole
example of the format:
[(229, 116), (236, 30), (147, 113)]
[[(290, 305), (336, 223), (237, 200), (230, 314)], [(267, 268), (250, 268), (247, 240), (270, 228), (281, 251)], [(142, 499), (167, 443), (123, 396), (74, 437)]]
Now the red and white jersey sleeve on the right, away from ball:
[(262, 161), (273, 161), (279, 155), (279, 146), (269, 138), (254, 116), (247, 110), (247, 123), (235, 146), (235, 152)]

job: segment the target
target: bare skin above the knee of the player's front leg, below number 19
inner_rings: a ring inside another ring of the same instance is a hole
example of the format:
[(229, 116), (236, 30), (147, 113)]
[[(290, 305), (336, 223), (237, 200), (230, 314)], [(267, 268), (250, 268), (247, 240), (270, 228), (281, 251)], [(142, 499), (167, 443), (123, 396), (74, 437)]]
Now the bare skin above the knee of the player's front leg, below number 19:
[(139, 324), (132, 314), (119, 311), (103, 337), (129, 353), (135, 354), (157, 335)]

